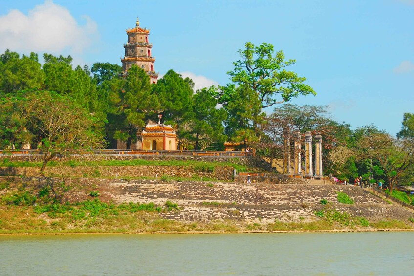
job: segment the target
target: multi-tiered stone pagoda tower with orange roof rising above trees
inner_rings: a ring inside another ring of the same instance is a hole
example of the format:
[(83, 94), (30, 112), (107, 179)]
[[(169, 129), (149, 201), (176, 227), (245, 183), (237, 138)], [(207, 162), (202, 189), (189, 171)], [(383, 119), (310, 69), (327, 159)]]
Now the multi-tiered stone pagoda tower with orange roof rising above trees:
[(138, 18), (135, 25), (135, 28), (126, 30), (128, 42), (124, 44), (125, 56), (121, 58), (122, 70), (126, 72), (131, 68), (132, 64), (136, 64), (147, 72), (151, 83), (156, 84), (158, 73), (154, 69), (155, 58), (151, 56), (153, 44), (148, 43), (150, 30), (140, 28)]

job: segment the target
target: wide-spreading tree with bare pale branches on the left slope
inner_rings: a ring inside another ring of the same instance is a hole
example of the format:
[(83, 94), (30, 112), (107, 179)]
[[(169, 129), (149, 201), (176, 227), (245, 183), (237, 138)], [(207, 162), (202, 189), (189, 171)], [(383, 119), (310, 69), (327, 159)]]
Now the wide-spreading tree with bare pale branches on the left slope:
[(55, 156), (68, 156), (103, 146), (95, 119), (72, 98), (55, 92), (32, 91), (17, 101), (16, 112), (24, 119), (27, 131), (41, 138), (41, 174)]

